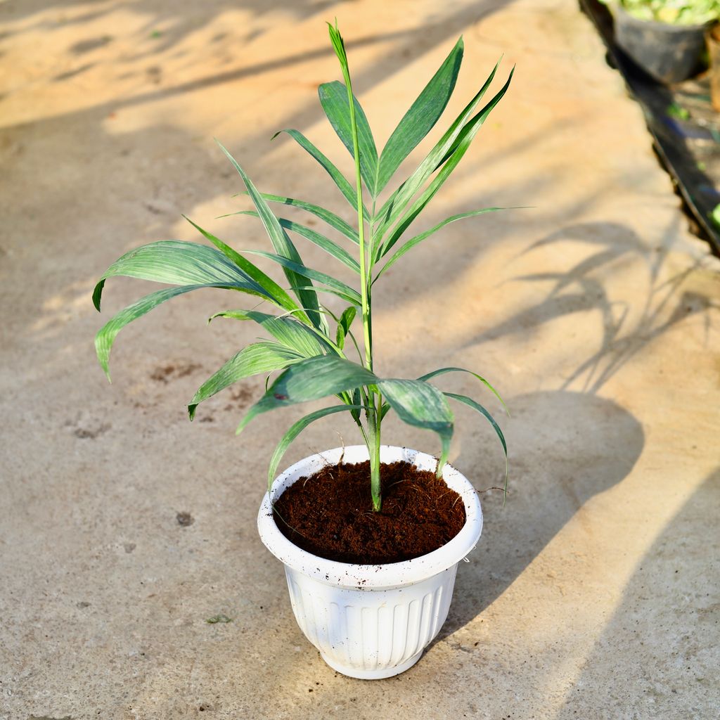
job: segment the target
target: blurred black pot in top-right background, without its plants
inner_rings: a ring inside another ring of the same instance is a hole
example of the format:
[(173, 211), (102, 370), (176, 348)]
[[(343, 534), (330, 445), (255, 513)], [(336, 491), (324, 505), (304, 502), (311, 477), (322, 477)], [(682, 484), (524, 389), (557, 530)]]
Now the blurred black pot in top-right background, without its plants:
[(613, 5), (615, 42), (649, 76), (679, 83), (701, 69), (707, 25), (670, 25), (640, 20)]

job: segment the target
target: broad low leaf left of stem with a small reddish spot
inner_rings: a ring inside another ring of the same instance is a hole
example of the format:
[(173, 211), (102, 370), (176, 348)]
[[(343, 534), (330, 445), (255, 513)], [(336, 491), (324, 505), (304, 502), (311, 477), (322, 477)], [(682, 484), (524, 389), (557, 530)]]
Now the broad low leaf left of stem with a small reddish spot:
[(285, 408), (307, 400), (354, 390), (374, 383), (377, 377), (363, 366), (337, 355), (323, 355), (303, 360), (289, 367), (269, 387), (238, 426), (238, 433), (257, 415), (276, 408)]

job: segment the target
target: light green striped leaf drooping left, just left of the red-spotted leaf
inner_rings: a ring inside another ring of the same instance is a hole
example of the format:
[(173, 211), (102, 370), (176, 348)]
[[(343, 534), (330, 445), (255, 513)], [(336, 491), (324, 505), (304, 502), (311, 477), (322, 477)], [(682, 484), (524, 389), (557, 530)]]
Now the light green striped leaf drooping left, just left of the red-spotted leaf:
[(302, 355), (279, 343), (264, 342), (248, 345), (230, 358), (199, 387), (187, 406), (190, 420), (194, 418), (195, 410), (200, 402), (207, 400), (208, 397), (212, 397), (220, 390), (225, 390), (233, 382), (261, 372), (284, 369), (302, 359)]

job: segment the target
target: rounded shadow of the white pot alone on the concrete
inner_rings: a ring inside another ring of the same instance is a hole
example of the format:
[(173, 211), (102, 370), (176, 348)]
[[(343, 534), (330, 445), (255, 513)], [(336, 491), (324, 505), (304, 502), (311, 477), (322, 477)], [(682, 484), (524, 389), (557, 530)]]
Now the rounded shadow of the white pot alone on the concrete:
[(508, 507), (486, 513), (485, 538), (460, 564), (436, 642), (502, 595), (582, 505), (631, 472), (644, 446), (640, 423), (612, 400), (551, 390), (513, 397), (511, 405), (506, 436), (519, 457)]

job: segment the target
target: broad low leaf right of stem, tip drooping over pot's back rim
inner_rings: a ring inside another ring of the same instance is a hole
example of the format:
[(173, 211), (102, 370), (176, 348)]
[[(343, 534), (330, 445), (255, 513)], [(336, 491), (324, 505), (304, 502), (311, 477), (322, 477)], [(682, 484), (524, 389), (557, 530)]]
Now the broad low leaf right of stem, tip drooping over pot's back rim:
[(438, 477), (447, 461), (453, 433), (453, 415), (444, 395), (423, 380), (379, 380), (377, 387), (400, 420), (437, 433), (442, 443)]

